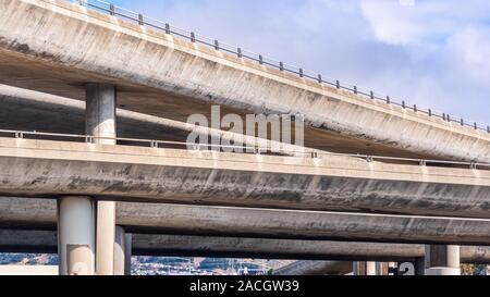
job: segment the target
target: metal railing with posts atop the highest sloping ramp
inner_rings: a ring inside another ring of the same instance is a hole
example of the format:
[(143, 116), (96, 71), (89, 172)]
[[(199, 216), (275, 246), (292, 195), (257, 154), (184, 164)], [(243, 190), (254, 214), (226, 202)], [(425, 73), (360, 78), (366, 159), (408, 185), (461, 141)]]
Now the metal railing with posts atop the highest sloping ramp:
[(372, 90), (366, 90), (366, 89), (359, 88), (356, 85), (341, 83), (338, 79), (333, 79), (331, 77), (327, 77), (321, 74), (317, 74), (317, 73), (307, 71), (303, 67), (290, 65), (282, 61), (277, 61), (272, 58), (243, 49), (241, 47), (235, 47), (235, 46), (232, 46), (232, 45), (229, 45), (225, 42), (221, 42), (217, 39), (209, 38), (209, 37), (196, 34), (191, 30), (186, 30), (186, 29), (183, 29), (180, 27), (172, 26), (169, 23), (164, 23), (159, 20), (146, 16), (144, 14), (126, 10), (124, 8), (117, 7), (109, 2), (105, 2), (101, 0), (65, 0), (65, 1), (75, 2), (81, 5), (91, 8), (96, 11), (110, 14), (114, 17), (120, 17), (120, 18), (123, 18), (126, 21), (131, 21), (140, 26), (148, 26), (154, 29), (162, 30), (166, 34), (181, 37), (183, 39), (191, 40), (192, 42), (201, 44), (201, 45), (211, 47), (215, 50), (219, 50), (219, 51), (223, 51), (223, 52), (228, 52), (230, 54), (236, 55), (241, 59), (255, 61), (261, 65), (278, 69), (285, 73), (298, 75), (299, 77), (311, 79), (319, 84), (329, 85), (336, 89), (352, 91), (355, 95), (364, 96), (364, 97), (372, 99), (372, 100), (382, 101), (387, 104), (397, 106), (403, 109), (409, 109), (409, 110), (413, 110), (414, 112), (426, 114), (427, 116), (439, 117), (448, 123), (453, 123), (453, 124), (471, 127), (474, 129), (486, 131), (487, 133), (490, 133), (490, 125), (485, 127), (482, 125), (479, 125), (476, 122), (471, 123), (471, 122), (465, 121), (462, 117), (454, 117), (454, 116), (450, 115), (449, 113), (436, 112), (431, 109), (420, 109), (416, 104), (408, 104), (404, 100), (396, 100), (394, 98), (391, 98), (390, 96), (384, 96), (384, 95), (377, 94)]

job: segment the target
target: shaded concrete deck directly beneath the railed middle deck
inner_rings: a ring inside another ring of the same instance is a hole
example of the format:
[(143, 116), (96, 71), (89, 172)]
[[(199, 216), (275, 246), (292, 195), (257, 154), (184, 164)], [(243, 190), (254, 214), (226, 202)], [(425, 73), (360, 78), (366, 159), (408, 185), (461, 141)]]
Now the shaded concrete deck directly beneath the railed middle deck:
[[(56, 228), (49, 200), (0, 199), (0, 228)], [(127, 233), (489, 245), (489, 220), (120, 202)]]

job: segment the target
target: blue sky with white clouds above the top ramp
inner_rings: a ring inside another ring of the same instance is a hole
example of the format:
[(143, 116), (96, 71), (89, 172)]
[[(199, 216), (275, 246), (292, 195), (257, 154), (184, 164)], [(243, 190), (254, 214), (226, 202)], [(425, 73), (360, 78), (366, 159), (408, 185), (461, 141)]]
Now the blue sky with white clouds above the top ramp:
[(118, 0), (365, 89), (490, 124), (488, 0)]

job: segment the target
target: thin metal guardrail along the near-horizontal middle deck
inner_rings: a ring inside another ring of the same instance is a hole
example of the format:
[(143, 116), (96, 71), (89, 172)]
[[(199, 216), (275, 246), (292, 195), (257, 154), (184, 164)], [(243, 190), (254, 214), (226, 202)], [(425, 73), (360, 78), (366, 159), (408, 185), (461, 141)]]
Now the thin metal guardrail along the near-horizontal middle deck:
[[(350, 157), (363, 159), (366, 162), (375, 162), (375, 161), (384, 161), (384, 162), (394, 162), (399, 164), (417, 164), (420, 166), (462, 166), (468, 168), (473, 170), (490, 170), (490, 163), (478, 163), (478, 162), (457, 162), (457, 161), (444, 161), (444, 160), (430, 160), (430, 159), (412, 159), (412, 158), (397, 158), (397, 157), (385, 157), (385, 156), (368, 156), (368, 154), (359, 154), (359, 153), (338, 153), (338, 152), (319, 152), (319, 151), (299, 151), (299, 150), (273, 150), (265, 147), (252, 147), (252, 146), (222, 146), (222, 145), (200, 145), (193, 143), (182, 143), (182, 141), (168, 141), (168, 140), (155, 140), (155, 139), (139, 139), (139, 138), (122, 138), (122, 137), (97, 137), (89, 135), (78, 135), (78, 134), (59, 134), (59, 133), (45, 133), (45, 132), (26, 132), (26, 131), (13, 131), (13, 129), (0, 129), (0, 137), (2, 135), (11, 136), (17, 139), (28, 139), (27, 137), (36, 137), (32, 139), (40, 139), (40, 140), (53, 140), (54, 138), (61, 139), (77, 139), (87, 144), (95, 144), (95, 140), (115, 140), (120, 143), (137, 143), (146, 145), (150, 148), (159, 149), (172, 147), (172, 146), (182, 146), (185, 148), (193, 148), (193, 150), (199, 151), (221, 151), (222, 149), (230, 150), (242, 150), (244, 152), (234, 153), (248, 153), (248, 154), (282, 154), (285, 158), (305, 158), (305, 159), (322, 159), (322, 157)], [(56, 139), (59, 140), (59, 139)], [(138, 146), (135, 146), (138, 147)], [(306, 149), (306, 148), (305, 148)], [(233, 152), (233, 151), (232, 151)]]

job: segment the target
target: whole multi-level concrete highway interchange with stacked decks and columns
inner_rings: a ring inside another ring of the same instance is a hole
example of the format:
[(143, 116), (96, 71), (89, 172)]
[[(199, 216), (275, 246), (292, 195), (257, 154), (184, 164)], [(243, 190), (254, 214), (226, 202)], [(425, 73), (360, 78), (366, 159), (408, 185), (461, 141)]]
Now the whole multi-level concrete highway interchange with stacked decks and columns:
[[(0, 0), (0, 250), (99, 275), (131, 255), (328, 260), (282, 273), (490, 263), (487, 128), (89, 2)], [(303, 114), (309, 149), (186, 149), (187, 116), (211, 106)]]

